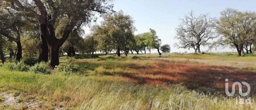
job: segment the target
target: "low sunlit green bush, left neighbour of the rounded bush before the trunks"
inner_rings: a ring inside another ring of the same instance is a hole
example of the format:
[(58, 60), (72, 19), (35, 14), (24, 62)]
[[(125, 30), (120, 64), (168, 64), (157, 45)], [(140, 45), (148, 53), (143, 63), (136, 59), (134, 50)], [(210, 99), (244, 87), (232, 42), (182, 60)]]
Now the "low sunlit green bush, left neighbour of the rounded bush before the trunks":
[(18, 62), (18, 63), (12, 63), (9, 66), (10, 70), (14, 71), (21, 71), (21, 72), (27, 72), (29, 71), (29, 65), (26, 65), (24, 62)]

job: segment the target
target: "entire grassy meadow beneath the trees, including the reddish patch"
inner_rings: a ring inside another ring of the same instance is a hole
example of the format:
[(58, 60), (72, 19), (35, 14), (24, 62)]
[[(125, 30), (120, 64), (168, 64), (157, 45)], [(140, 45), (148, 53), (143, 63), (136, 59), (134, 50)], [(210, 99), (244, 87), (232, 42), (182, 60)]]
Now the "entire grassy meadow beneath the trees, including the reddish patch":
[[(9, 71), (0, 65), (0, 109), (256, 109), (255, 54), (132, 56), (77, 59), (83, 71), (71, 75)], [(251, 104), (237, 104), (238, 92), (225, 94), (226, 78), (230, 89), (233, 82), (250, 84), (249, 96), (240, 98), (251, 97)]]

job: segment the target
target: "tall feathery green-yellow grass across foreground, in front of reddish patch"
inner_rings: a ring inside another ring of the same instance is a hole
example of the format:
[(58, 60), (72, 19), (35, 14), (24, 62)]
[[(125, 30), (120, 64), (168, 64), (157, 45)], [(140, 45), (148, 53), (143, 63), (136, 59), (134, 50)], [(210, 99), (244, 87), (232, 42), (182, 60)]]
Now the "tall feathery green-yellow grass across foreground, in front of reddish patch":
[[(25, 74), (25, 75), (24, 75)], [(112, 76), (80, 77), (41, 75), (0, 70), (0, 85), (44, 95), (49, 101), (62, 101), (63, 108), (71, 109), (255, 109), (251, 105), (239, 105), (234, 98), (199, 94), (183, 85), (154, 87), (136, 85)]]

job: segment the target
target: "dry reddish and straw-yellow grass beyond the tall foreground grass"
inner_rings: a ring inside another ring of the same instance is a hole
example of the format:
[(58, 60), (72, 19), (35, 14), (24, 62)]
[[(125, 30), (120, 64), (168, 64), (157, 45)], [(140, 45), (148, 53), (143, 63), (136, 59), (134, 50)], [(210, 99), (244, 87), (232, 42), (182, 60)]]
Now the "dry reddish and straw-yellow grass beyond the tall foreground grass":
[[(198, 90), (199, 92), (225, 94), (225, 79), (228, 78), (230, 83), (245, 81), (250, 84), (252, 93), (256, 92), (256, 81), (254, 80), (256, 78), (256, 67), (254, 67), (255, 64), (251, 64), (256, 59), (252, 56), (231, 56), (230, 58), (226, 56), (209, 57), (209, 55), (179, 57), (170, 55), (161, 58), (147, 56), (139, 60), (131, 60), (129, 57), (108, 60), (105, 59), (106, 57), (96, 60), (82, 59), (78, 62), (94, 67), (89, 68), (92, 70), (89, 75), (121, 76), (137, 84), (164, 86), (170, 83), (183, 83), (189, 89)], [(225, 61), (226, 64), (219, 64), (222, 61)], [(230, 62), (237, 63), (227, 66)], [(238, 68), (238, 65), (244, 68)]]

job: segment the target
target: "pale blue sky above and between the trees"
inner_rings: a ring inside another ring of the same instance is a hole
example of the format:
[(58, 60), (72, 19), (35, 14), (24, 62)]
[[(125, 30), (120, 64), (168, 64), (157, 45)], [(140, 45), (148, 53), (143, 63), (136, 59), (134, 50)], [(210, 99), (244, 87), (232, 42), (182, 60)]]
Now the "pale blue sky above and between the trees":
[[(134, 34), (149, 32), (152, 28), (157, 36), (162, 39), (163, 44), (171, 46), (171, 52), (193, 52), (194, 49), (177, 49), (174, 43), (176, 36), (175, 28), (181, 23), (188, 12), (193, 10), (195, 15), (209, 14), (210, 17), (220, 17), (220, 12), (225, 8), (233, 8), (238, 11), (255, 11), (255, 0), (116, 0), (113, 2), (114, 10), (123, 10), (125, 14), (133, 17), (137, 31)], [(101, 21), (99, 18), (97, 22)], [(85, 32), (89, 33), (89, 27)], [(201, 51), (208, 50), (208, 47), (201, 47)], [(235, 51), (234, 49), (218, 49), (212, 52)], [(152, 51), (151, 51), (152, 52)], [(153, 53), (157, 52), (156, 50)]]

